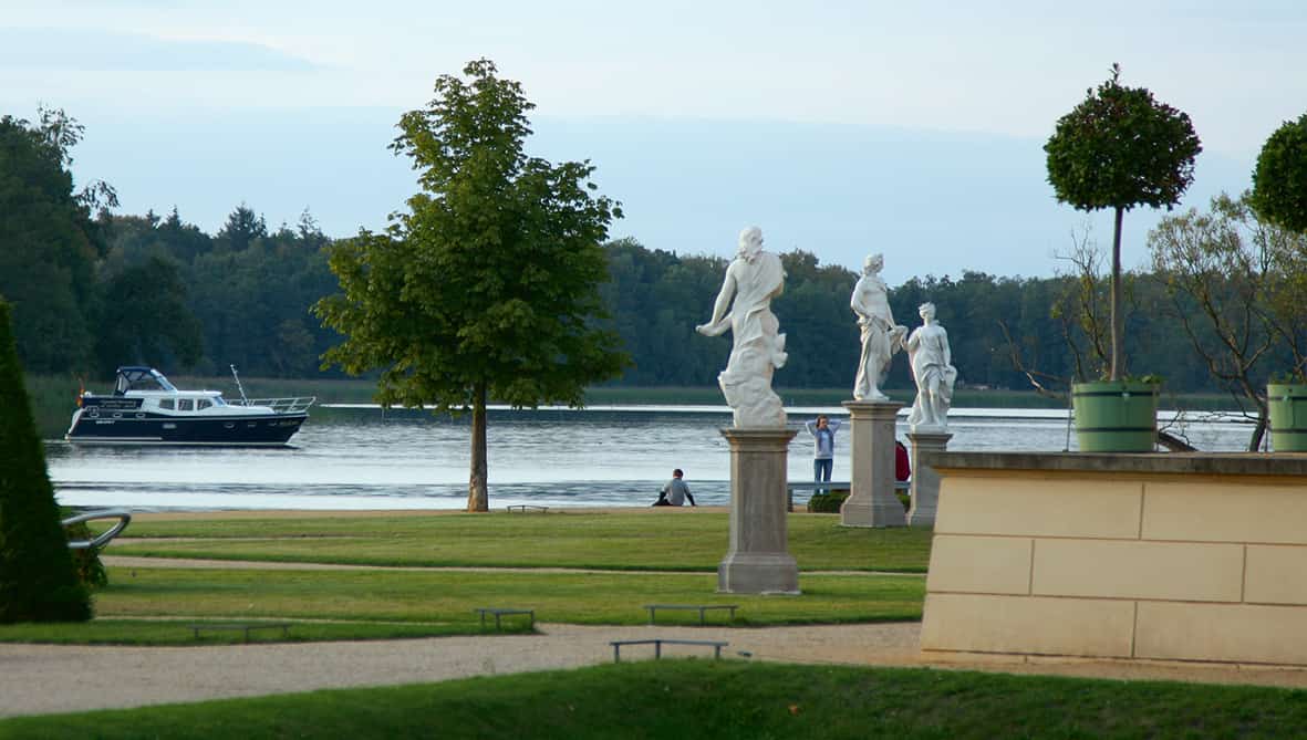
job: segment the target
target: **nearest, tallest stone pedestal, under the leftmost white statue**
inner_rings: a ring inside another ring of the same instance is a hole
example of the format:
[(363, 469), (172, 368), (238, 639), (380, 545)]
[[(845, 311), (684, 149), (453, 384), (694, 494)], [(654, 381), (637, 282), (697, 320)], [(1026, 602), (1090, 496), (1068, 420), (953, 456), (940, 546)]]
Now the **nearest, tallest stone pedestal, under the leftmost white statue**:
[(729, 428), (731, 548), (718, 565), (724, 594), (799, 594), (799, 565), (788, 553), (784, 428)]

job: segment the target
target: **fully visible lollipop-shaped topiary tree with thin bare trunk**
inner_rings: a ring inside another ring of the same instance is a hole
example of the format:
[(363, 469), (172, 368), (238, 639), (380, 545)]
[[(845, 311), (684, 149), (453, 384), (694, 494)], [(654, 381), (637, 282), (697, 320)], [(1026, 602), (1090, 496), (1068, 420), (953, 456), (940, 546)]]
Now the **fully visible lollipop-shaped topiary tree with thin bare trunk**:
[(1044, 144), (1048, 182), (1059, 203), (1080, 210), (1111, 208), (1111, 379), (1125, 367), (1125, 318), (1121, 305), (1121, 216), (1136, 205), (1166, 207), (1180, 201), (1193, 182), (1193, 160), (1202, 152), (1188, 114), (1159, 103), (1146, 88), (1120, 84), (1121, 68), (1089, 90), (1082, 103), (1057, 119)]

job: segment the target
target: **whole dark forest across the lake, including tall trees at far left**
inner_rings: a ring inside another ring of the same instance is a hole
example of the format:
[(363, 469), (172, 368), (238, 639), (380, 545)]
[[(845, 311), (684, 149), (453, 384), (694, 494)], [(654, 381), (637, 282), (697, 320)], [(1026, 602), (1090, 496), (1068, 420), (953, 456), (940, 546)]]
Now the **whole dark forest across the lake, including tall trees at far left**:
[[(58, 110), (43, 109), (35, 123), (0, 116), (0, 298), (12, 306), (29, 373), (81, 375), (93, 383), (129, 363), (200, 375), (225, 374), (229, 365), (271, 378), (337, 373), (320, 366), (341, 337), (310, 311), (339, 292), (327, 259), (332, 239), (308, 210), (294, 226), (269, 229), (240, 204), (214, 234), (186, 222), (175, 208), (167, 216), (115, 214), (110, 186), (74, 188), (71, 150), (81, 133)], [(1202, 226), (1202, 218), (1191, 222)], [(1176, 226), (1175, 235), (1184, 229)], [(694, 327), (712, 312), (728, 255), (676, 255), (635, 239), (604, 248), (610, 280), (601, 294), (609, 316), (596, 320), (612, 322), (631, 358), (614, 382), (715, 384), (731, 341), (701, 336)], [(786, 292), (772, 307), (789, 360), (775, 386), (852, 387), (859, 335), (848, 299), (857, 275), (802, 251), (782, 259)], [(1061, 277), (914, 277), (891, 286), (890, 305), (898, 322), (911, 327), (921, 302), (936, 303), (962, 383), (1021, 390), (1035, 379), (1060, 387), (1068, 378), (1100, 374), (1107, 326), (1106, 278), (1094, 269), (1093, 251), (1078, 250), (1067, 264), (1072, 269)], [(1231, 298), (1233, 309), (1217, 309), (1218, 315), (1248, 324), (1240, 316), (1249, 315), (1244, 309), (1252, 303), (1240, 297), (1251, 294), (1248, 285), (1259, 275), (1236, 272), (1204, 267), (1201, 285), (1212, 292), (1204, 299), (1219, 305)], [(1263, 357), (1255, 343), (1264, 329), (1235, 327), (1217, 335), (1201, 322), (1184, 322), (1201, 307), (1192, 298), (1176, 299), (1163, 280), (1140, 273), (1128, 276), (1128, 373), (1159, 374), (1174, 392), (1219, 390), (1208, 360), (1230, 346), (1242, 353), (1240, 362), (1248, 360), (1238, 373), (1295, 366), (1293, 357)], [(1209, 348), (1206, 360), (1195, 344)], [(895, 362), (886, 387), (911, 384), (906, 362)]]

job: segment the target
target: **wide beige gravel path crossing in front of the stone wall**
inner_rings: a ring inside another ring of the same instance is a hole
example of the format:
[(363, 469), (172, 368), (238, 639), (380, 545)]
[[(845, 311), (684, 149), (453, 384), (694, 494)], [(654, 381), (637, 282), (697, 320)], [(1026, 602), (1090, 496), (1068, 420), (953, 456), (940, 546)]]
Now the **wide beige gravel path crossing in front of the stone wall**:
[[(576, 668), (609, 663), (609, 641), (651, 637), (721, 639), (724, 658), (850, 665), (918, 665), (1094, 679), (1201, 681), (1307, 688), (1307, 671), (1155, 663), (1040, 660), (924, 663), (920, 625), (834, 625), (765, 629), (578, 626), (537, 622), (538, 634), (443, 637), (205, 647), (0, 645), (0, 716), (195, 702), (314, 689), (382, 686)], [(623, 660), (648, 659), (633, 646)], [(706, 656), (706, 647), (665, 646), (668, 656)]]

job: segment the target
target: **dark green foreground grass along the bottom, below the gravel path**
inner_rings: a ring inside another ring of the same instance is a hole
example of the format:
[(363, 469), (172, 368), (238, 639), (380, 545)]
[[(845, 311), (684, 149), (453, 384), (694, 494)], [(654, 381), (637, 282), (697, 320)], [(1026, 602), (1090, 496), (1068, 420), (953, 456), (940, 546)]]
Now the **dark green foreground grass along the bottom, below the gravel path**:
[(661, 660), (0, 720), (0, 737), (1294, 737), (1307, 692)]

